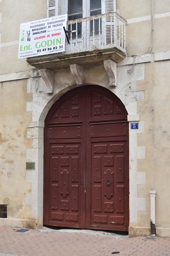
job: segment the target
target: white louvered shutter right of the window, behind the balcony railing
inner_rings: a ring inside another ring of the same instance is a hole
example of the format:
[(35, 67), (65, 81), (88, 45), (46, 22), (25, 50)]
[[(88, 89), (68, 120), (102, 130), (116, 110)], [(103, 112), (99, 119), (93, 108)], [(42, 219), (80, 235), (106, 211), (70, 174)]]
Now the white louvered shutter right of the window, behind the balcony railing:
[[(105, 13), (116, 12), (116, 0), (105, 0)], [(111, 35), (112, 21), (112, 35)], [(114, 44), (114, 17), (106, 18), (106, 44)], [(112, 38), (111, 38), (112, 37)], [(112, 39), (112, 40), (111, 40)]]

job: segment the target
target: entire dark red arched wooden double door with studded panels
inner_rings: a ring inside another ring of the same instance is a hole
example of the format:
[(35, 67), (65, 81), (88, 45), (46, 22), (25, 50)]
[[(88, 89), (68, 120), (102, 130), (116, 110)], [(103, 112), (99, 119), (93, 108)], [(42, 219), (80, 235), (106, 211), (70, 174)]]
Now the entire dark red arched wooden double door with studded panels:
[(100, 86), (64, 94), (44, 129), (44, 225), (128, 230), (129, 149), (123, 103)]

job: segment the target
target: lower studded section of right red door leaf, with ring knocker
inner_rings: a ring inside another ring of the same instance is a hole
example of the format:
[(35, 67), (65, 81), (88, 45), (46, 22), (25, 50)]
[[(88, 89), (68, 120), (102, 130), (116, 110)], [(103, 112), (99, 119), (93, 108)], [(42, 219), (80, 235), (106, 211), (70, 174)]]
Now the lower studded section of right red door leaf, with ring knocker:
[(125, 204), (128, 194), (124, 186), (125, 179), (128, 180), (122, 149), (126, 144), (125, 141), (91, 143), (91, 202), (88, 202), (91, 203), (91, 223), (88, 222), (87, 228), (103, 229), (100, 223), (104, 223), (104, 229), (107, 225), (107, 229), (127, 230), (129, 208)]

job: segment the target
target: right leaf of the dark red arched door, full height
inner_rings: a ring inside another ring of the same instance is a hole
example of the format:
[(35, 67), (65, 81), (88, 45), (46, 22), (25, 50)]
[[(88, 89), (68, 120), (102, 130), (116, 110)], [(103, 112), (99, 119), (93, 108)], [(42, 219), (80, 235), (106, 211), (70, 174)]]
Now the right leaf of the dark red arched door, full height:
[(102, 87), (88, 87), (86, 102), (86, 228), (128, 230), (127, 112)]

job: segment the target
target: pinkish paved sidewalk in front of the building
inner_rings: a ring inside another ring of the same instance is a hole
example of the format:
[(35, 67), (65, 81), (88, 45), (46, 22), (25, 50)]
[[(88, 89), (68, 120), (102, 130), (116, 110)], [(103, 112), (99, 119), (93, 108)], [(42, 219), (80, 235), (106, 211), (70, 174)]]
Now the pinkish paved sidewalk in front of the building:
[(0, 256), (170, 256), (170, 238), (128, 238), (92, 230), (49, 229), (16, 232), (0, 227)]

